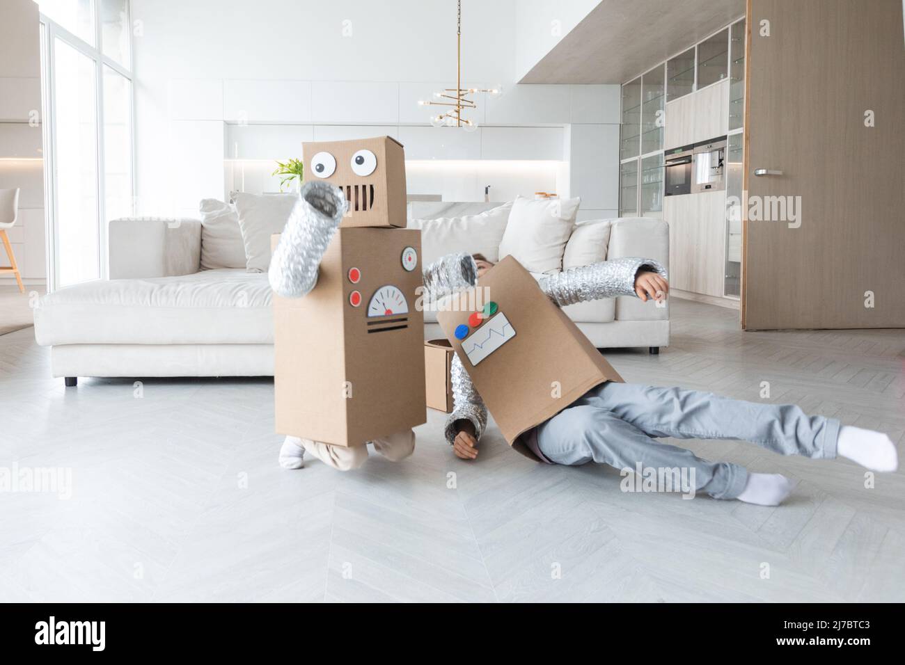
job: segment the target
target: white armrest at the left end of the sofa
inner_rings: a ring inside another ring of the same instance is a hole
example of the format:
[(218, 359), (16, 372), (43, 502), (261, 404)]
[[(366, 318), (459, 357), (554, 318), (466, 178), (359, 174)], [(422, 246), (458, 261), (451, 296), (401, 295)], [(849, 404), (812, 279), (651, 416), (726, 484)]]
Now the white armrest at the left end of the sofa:
[(110, 279), (188, 275), (201, 269), (201, 222), (129, 217), (108, 227)]

